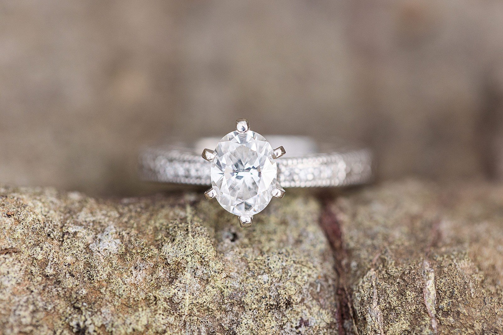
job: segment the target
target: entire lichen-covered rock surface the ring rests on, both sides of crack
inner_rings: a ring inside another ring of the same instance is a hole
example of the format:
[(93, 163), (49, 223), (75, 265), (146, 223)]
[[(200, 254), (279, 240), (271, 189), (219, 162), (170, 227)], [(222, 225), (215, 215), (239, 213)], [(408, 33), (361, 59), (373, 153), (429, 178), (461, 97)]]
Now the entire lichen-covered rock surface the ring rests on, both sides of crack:
[(0, 189), (0, 329), (503, 329), (503, 187), (389, 182), (321, 201), (290, 192), (250, 229), (200, 198)]

